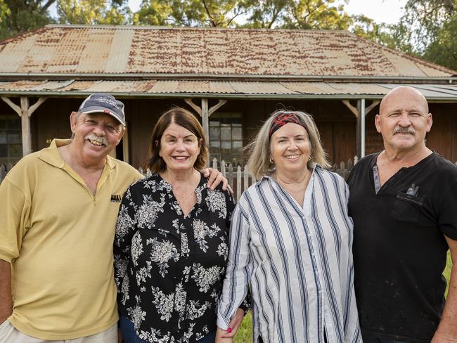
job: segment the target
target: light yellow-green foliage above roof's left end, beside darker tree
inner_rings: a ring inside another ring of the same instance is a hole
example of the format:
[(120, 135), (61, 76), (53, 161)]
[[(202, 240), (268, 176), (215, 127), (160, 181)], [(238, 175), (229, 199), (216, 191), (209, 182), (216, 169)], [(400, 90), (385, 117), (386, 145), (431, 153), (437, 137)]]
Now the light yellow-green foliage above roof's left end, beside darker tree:
[(123, 25), (128, 24), (131, 11), (127, 1), (58, 0), (57, 13), (61, 24)]

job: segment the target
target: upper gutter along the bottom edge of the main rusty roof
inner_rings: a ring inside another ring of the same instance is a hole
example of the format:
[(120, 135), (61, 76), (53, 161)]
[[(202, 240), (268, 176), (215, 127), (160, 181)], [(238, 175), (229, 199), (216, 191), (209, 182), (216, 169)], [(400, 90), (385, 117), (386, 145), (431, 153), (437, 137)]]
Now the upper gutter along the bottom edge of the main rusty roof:
[(402, 82), (437, 82), (440, 84), (457, 83), (456, 76), (446, 77), (409, 77), (409, 76), (344, 76), (344, 75), (214, 75), (214, 74), (167, 74), (167, 73), (39, 73), (39, 72), (0, 72), (0, 79), (9, 80), (148, 80), (148, 79), (165, 79), (165, 80), (199, 80), (199, 81), (300, 81), (300, 82), (380, 82), (380, 83), (402, 83)]

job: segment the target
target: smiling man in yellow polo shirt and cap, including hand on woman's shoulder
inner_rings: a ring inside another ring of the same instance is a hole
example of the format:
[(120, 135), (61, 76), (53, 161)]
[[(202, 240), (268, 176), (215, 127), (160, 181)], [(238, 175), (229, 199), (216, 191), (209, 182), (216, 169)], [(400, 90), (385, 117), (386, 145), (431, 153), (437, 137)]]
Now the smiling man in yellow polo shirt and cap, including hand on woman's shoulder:
[(117, 342), (112, 242), (141, 174), (108, 155), (125, 131), (120, 101), (92, 94), (70, 127), (0, 185), (0, 343)]

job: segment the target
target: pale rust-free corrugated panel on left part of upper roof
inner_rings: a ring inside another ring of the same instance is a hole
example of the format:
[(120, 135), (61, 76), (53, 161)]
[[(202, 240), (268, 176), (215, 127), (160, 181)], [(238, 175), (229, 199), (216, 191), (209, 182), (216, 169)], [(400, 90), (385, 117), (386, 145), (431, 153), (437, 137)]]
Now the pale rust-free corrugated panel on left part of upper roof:
[(110, 53), (106, 61), (105, 72), (124, 72), (131, 52), (131, 40), (135, 30), (116, 30), (112, 37)]

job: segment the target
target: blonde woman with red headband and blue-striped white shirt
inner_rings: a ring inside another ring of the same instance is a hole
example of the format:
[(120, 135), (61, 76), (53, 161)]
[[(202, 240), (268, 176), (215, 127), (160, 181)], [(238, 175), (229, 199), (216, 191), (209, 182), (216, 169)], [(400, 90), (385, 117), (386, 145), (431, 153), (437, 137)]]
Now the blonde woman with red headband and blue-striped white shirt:
[(349, 190), (328, 167), (304, 112), (274, 112), (250, 146), (259, 181), (231, 221), (217, 342), (250, 287), (254, 342), (361, 342), (354, 296)]

